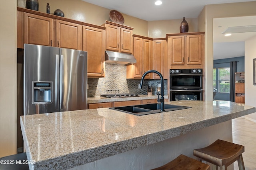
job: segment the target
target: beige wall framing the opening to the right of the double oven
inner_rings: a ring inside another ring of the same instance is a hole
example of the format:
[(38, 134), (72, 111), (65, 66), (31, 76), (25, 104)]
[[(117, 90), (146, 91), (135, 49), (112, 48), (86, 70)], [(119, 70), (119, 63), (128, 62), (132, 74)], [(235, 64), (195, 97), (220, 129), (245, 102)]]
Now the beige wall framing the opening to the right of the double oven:
[[(205, 100), (212, 100), (213, 81), (213, 18), (228, 18), (238, 16), (255, 16), (256, 1), (206, 5), (198, 17), (199, 30), (205, 24)], [(247, 95), (247, 94), (246, 94)]]

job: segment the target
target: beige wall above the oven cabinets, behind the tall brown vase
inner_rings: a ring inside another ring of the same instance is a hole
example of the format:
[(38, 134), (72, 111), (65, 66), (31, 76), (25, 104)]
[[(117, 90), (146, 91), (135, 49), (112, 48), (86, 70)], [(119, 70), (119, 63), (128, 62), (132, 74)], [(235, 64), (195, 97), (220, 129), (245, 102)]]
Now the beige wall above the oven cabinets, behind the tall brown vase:
[[(178, 20), (161, 20), (148, 22), (148, 37), (164, 38), (168, 33), (179, 33), (180, 23), (183, 18)], [(197, 18), (185, 18), (188, 22), (188, 32), (197, 32)]]

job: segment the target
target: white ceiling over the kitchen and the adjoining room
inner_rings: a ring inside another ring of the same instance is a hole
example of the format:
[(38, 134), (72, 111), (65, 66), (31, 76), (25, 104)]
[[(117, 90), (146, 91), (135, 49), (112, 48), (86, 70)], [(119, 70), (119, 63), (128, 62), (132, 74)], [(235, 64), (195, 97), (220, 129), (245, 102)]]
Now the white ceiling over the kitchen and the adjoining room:
[[(140, 18), (146, 21), (174, 20), (197, 18), (205, 5), (233, 2), (248, 2), (254, 0), (162, 0), (162, 5), (156, 6), (156, 0), (83, 0), (122, 14)], [(228, 27), (256, 25), (256, 16), (216, 18), (213, 21), (214, 59), (225, 59), (244, 56), (244, 41), (255, 36), (255, 32), (233, 33), (225, 37)], [(221, 26), (221, 27), (220, 27)]]

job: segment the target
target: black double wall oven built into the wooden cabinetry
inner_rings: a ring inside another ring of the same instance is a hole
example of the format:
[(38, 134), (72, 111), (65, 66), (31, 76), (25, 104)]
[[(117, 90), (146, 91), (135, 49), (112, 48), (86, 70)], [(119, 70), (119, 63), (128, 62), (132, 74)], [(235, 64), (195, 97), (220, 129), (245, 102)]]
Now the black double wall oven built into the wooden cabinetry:
[(170, 69), (170, 101), (202, 100), (203, 69)]

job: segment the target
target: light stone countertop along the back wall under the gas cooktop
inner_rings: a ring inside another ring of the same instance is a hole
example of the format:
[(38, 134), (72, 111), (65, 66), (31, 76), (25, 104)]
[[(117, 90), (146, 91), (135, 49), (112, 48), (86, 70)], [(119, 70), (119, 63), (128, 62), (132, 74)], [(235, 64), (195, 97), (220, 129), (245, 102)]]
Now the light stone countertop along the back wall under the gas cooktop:
[[(139, 97), (129, 97), (129, 98), (104, 98), (104, 97), (94, 97), (87, 98), (87, 103), (104, 103), (104, 102), (121, 102), (130, 100), (146, 100), (146, 99), (157, 99), (157, 95), (139, 95)], [(164, 96), (164, 99), (168, 99), (168, 96)]]

